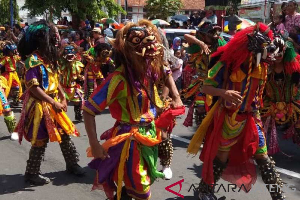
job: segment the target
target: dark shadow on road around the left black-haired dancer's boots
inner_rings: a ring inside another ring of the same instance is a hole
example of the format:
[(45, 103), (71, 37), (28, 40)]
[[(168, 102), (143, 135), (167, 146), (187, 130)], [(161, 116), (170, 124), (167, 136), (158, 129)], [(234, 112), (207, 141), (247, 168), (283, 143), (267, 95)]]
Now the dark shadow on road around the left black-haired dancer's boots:
[[(84, 176), (75, 176), (68, 174), (66, 171), (60, 172), (52, 172), (52, 173), (45, 173), (43, 176), (50, 178), (52, 185), (55, 186), (62, 186), (62, 185), (69, 185), (69, 184), (87, 184), (91, 185), (94, 182), (95, 172), (94, 170), (89, 169), (88, 167), (84, 168), (86, 173)], [(37, 189), (36, 186), (30, 183), (26, 183), (24, 181), (23, 174), (16, 174), (16, 175), (0, 175), (0, 195), (2, 194), (12, 194), (16, 192), (32, 192)]]

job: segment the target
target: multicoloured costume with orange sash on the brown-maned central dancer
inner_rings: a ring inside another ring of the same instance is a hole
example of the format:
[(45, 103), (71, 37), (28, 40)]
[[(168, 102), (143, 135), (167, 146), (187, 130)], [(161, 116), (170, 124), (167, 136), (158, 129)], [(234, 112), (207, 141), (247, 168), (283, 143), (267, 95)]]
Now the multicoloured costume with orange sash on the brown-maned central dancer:
[[(111, 158), (96, 159), (89, 164), (97, 170), (93, 189), (104, 187), (107, 196), (113, 198), (116, 183), (120, 197), (124, 182), (129, 196), (150, 199), (150, 185), (156, 178), (164, 178), (156, 169), (161, 130), (154, 123), (157, 113), (152, 102), (163, 105), (153, 83), (144, 83), (150, 91), (150, 101), (146, 91), (141, 88), (138, 92), (125, 79), (124, 73), (125, 68), (119, 67), (84, 106), (84, 110), (94, 116), (108, 106), (116, 119), (115, 126), (101, 136), (107, 140), (102, 146)], [(167, 76), (171, 76), (170, 70)]]

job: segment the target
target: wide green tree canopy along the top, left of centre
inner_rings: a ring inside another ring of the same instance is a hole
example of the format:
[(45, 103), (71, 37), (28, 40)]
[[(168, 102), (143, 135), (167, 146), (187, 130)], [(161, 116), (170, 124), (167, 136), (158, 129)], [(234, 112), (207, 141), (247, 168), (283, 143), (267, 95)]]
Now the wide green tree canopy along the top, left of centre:
[[(102, 7), (106, 7), (108, 14), (102, 10)], [(50, 13), (56, 19), (61, 17), (62, 11), (67, 10), (81, 19), (91, 15), (96, 20), (114, 17), (124, 12), (114, 0), (25, 0), (22, 9), (27, 9), (31, 17)]]

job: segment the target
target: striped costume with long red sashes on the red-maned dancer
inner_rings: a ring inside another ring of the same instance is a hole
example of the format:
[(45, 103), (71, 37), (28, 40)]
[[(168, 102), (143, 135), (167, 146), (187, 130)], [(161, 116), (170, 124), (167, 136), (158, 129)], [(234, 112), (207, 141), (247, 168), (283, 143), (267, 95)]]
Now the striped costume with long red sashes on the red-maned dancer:
[[(205, 161), (206, 166), (209, 166), (208, 160), (214, 159), (217, 151), (234, 152), (234, 154), (230, 154), (232, 156), (229, 156), (229, 166), (235, 169), (239, 166), (238, 163), (244, 162), (241, 160), (249, 163), (249, 158), (245, 158), (246, 153), (244, 152), (250, 149), (252, 152), (248, 152), (249, 154), (267, 155), (266, 139), (259, 115), (267, 66), (260, 64), (252, 69), (241, 66), (235, 72), (228, 72), (226, 65), (222, 62), (212, 61), (211, 64), (213, 63), (216, 64), (212, 65), (213, 67), (208, 71), (208, 78), (204, 85), (241, 92), (243, 103), (239, 109), (236, 109), (230, 102), (223, 99), (217, 100), (193, 136), (187, 151), (197, 154), (204, 137), (206, 137), (200, 160)], [(228, 74), (227, 78), (225, 77), (226, 73)], [(227, 80), (226, 85), (224, 85), (224, 80)], [(245, 169), (249, 169), (248, 176), (239, 174), (243, 172), (235, 171), (231, 167), (228, 167), (229, 172), (224, 174), (228, 174), (229, 177), (233, 174), (235, 177), (241, 178), (239, 180), (242, 180), (247, 190), (250, 190), (251, 184), (256, 180), (256, 171), (254, 166), (251, 163), (248, 165), (248, 163), (247, 167), (245, 166)], [(206, 166), (202, 170), (202, 177), (208, 180), (208, 184), (214, 184), (214, 179), (213, 177), (211, 179), (210, 174), (212, 168)], [(231, 179), (224, 176), (222, 178), (240, 187), (240, 182), (236, 182), (238, 178), (235, 179), (232, 176)]]

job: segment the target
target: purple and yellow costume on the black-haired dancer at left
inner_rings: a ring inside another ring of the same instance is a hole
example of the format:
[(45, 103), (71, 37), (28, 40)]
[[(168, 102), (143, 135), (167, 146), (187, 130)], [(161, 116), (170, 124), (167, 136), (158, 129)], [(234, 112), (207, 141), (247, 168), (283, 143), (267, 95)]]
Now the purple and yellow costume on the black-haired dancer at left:
[[(54, 100), (58, 102), (56, 97), (59, 85), (58, 71), (54, 71), (52, 66), (46, 65), (37, 53), (27, 58), (25, 67), (26, 87), (30, 89), (37, 85), (46, 94), (54, 95)], [(24, 98), (21, 118), (16, 128), (20, 136), (20, 143), (22, 136), (33, 146), (44, 146), (49, 139), (50, 142), (60, 143), (60, 134), (64, 133), (79, 136), (65, 112), (56, 113), (50, 104), (36, 99), (29, 90)]]

